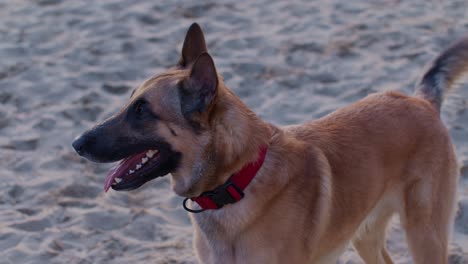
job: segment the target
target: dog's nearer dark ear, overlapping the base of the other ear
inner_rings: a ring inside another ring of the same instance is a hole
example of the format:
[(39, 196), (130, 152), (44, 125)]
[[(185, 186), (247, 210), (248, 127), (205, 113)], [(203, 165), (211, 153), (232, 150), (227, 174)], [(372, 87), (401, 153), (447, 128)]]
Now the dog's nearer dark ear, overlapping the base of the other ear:
[(181, 87), (181, 106), (184, 116), (205, 112), (218, 91), (218, 75), (213, 59), (202, 53), (195, 61), (187, 82)]

